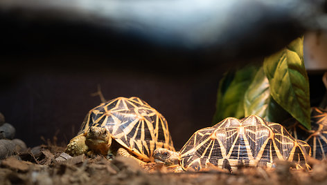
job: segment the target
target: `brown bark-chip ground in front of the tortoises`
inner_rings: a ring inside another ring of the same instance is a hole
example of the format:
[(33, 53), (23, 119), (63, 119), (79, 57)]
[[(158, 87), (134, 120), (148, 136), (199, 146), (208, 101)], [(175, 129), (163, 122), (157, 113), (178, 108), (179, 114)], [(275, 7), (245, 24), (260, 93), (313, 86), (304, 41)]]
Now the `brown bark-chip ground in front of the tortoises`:
[(63, 150), (48, 144), (3, 159), (0, 184), (327, 184), (327, 162), (315, 159), (310, 159), (312, 171), (292, 170), (292, 164), (279, 162), (273, 169), (173, 173), (155, 163), (139, 166), (124, 157), (112, 161), (100, 156), (70, 157)]

